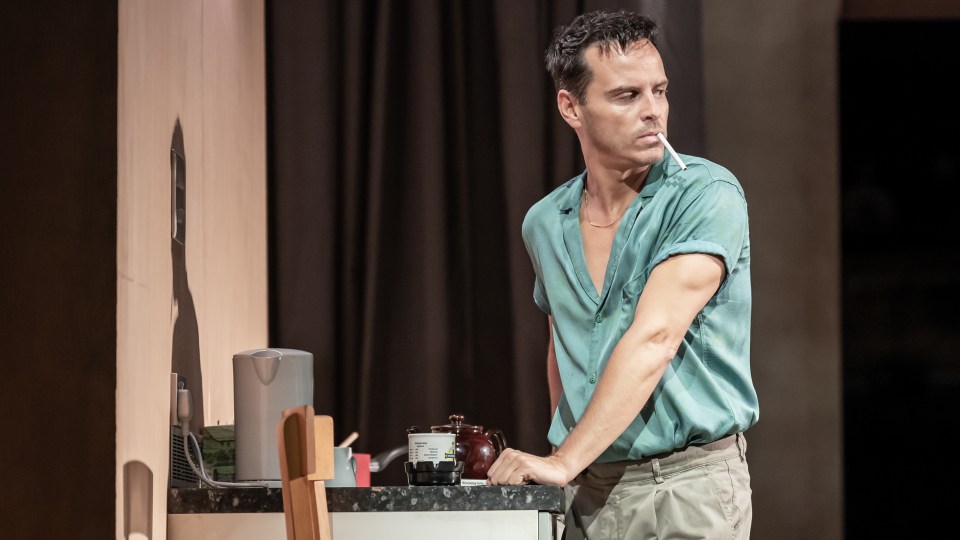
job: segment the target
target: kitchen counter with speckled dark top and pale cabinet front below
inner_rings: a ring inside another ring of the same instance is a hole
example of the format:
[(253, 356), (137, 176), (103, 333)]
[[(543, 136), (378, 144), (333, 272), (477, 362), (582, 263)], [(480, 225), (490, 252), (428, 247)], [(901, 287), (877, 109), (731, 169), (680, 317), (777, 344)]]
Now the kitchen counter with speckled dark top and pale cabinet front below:
[[(556, 486), (383, 486), (327, 488), (334, 538), (560, 537), (564, 509)], [(168, 538), (286, 538), (277, 488), (171, 488)]]

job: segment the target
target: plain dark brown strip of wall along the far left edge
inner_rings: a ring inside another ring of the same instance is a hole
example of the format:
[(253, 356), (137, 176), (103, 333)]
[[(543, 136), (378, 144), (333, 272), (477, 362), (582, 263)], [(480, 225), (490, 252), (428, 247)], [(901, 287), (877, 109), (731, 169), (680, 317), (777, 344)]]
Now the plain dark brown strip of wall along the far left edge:
[(3, 13), (2, 535), (110, 538), (117, 3)]

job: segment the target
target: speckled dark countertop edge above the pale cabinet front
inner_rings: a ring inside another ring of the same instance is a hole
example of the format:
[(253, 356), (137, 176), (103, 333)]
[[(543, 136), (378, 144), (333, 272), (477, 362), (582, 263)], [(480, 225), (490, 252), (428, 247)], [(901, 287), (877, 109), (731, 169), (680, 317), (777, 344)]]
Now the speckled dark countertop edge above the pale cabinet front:
[[(383, 486), (327, 488), (331, 512), (538, 510), (563, 513), (556, 486)], [(278, 488), (171, 488), (170, 514), (283, 512)]]

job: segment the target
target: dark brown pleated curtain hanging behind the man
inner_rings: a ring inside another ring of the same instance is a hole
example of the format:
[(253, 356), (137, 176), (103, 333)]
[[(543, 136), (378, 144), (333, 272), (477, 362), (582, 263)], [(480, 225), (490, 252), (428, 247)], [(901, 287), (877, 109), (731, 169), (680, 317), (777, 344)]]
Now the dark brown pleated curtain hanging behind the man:
[(664, 26), (671, 142), (701, 153), (699, 2), (267, 4), (271, 345), (314, 354), (317, 412), (355, 451), (452, 413), (548, 451), (520, 226), (583, 168), (543, 51), (601, 7)]

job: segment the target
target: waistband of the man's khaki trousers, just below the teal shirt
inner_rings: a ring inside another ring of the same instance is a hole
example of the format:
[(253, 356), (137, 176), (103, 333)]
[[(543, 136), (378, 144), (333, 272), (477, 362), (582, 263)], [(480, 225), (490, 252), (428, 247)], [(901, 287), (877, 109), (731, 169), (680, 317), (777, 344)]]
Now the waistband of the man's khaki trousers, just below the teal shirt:
[(708, 463), (726, 461), (737, 456), (745, 460), (746, 452), (746, 438), (743, 433), (736, 433), (704, 445), (691, 445), (643, 459), (594, 463), (577, 476), (576, 482), (604, 485), (654, 481), (659, 484), (664, 477)]

